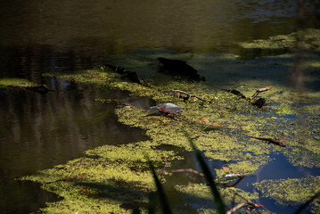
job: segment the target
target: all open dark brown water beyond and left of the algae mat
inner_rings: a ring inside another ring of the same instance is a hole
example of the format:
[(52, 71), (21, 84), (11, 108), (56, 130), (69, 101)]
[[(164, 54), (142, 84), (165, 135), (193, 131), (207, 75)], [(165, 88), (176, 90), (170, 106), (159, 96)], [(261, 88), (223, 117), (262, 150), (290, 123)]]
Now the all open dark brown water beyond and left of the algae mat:
[[(237, 42), (318, 28), (317, 12), (314, 1), (290, 0), (1, 2), (0, 78), (28, 78), (57, 90), (46, 95), (0, 90), (1, 212), (27, 213), (55, 200), (14, 177), (102, 144), (144, 139), (141, 130), (117, 122), (115, 105), (94, 102), (125, 99), (126, 93), (41, 73), (92, 69), (110, 54), (138, 49), (240, 53)], [(141, 98), (136, 102), (149, 105)]]

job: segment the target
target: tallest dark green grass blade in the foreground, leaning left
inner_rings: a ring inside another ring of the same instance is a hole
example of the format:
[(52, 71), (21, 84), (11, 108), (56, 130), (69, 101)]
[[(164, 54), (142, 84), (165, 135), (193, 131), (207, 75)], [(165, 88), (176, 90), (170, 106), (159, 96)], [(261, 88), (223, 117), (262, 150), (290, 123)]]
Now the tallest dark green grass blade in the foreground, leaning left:
[(202, 172), (206, 177), (206, 180), (209, 184), (209, 187), (211, 188), (211, 192), (213, 194), (213, 202), (215, 202), (217, 212), (219, 214), (226, 214), (226, 205), (223, 202), (219, 191), (217, 190), (217, 185), (211, 175), (210, 169), (209, 169), (206, 161), (204, 161), (204, 158), (201, 156), (201, 152), (198, 150), (198, 148), (193, 143), (193, 139), (191, 139), (191, 137), (188, 136), (186, 133), (185, 133), (185, 136), (188, 138), (189, 143), (191, 144), (191, 147), (193, 148), (193, 152), (195, 153), (195, 157), (196, 157), (197, 161), (200, 163)]

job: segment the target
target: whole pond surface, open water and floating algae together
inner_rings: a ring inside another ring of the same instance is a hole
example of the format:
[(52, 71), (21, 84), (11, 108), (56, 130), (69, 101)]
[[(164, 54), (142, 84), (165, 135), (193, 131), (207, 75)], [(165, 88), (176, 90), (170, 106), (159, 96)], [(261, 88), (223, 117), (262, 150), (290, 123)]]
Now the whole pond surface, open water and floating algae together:
[[(250, 199), (264, 205), (260, 212), (292, 213), (319, 186), (319, 53), (310, 47), (288, 53), (291, 37), (278, 37), (276, 44), (284, 48), (276, 49), (237, 43), (318, 28), (313, 3), (1, 3), (0, 77), (28, 78), (55, 91), (0, 89), (1, 212), (119, 213), (145, 207), (154, 186), (144, 152), (157, 169), (166, 166), (165, 187), (175, 212), (210, 212), (204, 178), (189, 170), (201, 171), (181, 133), (185, 129), (209, 158), (217, 183), (236, 187), (222, 191), (229, 207)], [(314, 44), (318, 38), (305, 41)], [(266, 44), (260, 42), (255, 44)], [(159, 56), (185, 60), (208, 81), (161, 75)], [(157, 90), (102, 72), (104, 62), (136, 71)], [(267, 99), (262, 110), (224, 91), (250, 96), (264, 86), (274, 88), (260, 95)], [(129, 93), (110, 89), (115, 87)], [(184, 103), (158, 89), (181, 89), (214, 102)], [(184, 122), (146, 111), (168, 101), (184, 108), (179, 114)], [(276, 137), (287, 147), (250, 136)], [(246, 177), (237, 183), (224, 177), (230, 173)], [(61, 198), (14, 180), (28, 175), (34, 177), (24, 179), (45, 184)], [(233, 199), (235, 193), (243, 198)], [(319, 210), (318, 201), (311, 210)]]

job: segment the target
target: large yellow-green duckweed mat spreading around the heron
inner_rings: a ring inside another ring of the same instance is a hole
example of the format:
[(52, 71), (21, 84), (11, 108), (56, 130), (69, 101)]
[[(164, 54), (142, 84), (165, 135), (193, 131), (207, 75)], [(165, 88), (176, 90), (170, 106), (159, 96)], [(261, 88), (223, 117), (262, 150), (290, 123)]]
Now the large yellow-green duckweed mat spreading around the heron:
[[(286, 82), (291, 79), (288, 76), (291, 76), (291, 70), (296, 66), (292, 60), (294, 55), (289, 53), (250, 61), (238, 60), (237, 56), (232, 54), (181, 54), (180, 59), (189, 60), (188, 62), (208, 79), (200, 83), (176, 81), (154, 72), (153, 77), (147, 78), (152, 87), (147, 87), (130, 83), (105, 68), (103, 71), (98, 69), (70, 74), (46, 74), (127, 90), (131, 95), (148, 96), (155, 103), (176, 103), (184, 111), (177, 114), (178, 119), (181, 119), (178, 121), (152, 114), (151, 111), (123, 101), (97, 100), (119, 103), (116, 109), (119, 122), (144, 129), (149, 140), (104, 145), (86, 151), (82, 158), (21, 179), (38, 182), (45, 190), (62, 197), (59, 202), (48, 202), (45, 208), (40, 209), (43, 212), (130, 213), (135, 207), (147, 212), (148, 195), (155, 191), (155, 185), (145, 154), (148, 154), (159, 173), (166, 164), (166, 169), (170, 169), (176, 160), (185, 158), (183, 151), (191, 151), (185, 132), (193, 138), (208, 160), (225, 161), (229, 169), (215, 169), (218, 184), (226, 183), (227, 174), (257, 174), (262, 166), (273, 161), (271, 156), (275, 157), (276, 154), (283, 154), (293, 166), (320, 168), (320, 93), (312, 87), (309, 88), (319, 81), (319, 76), (315, 75), (319, 66), (316, 63), (316, 54), (308, 54), (310, 57), (303, 58), (303, 63), (299, 65), (299, 69), (303, 71), (303, 76), (299, 78), (299, 88)], [(179, 58), (179, 54), (154, 50), (149, 55), (144, 52), (143, 63), (146, 65), (154, 62), (159, 55)], [(129, 60), (127, 61), (129, 64)], [(134, 61), (137, 61), (137, 57)], [(121, 66), (126, 67), (126, 64)], [(137, 67), (141, 68), (142, 65)], [(135, 70), (139, 75), (139, 70), (132, 64), (128, 69)], [(224, 90), (236, 89), (250, 97), (258, 88), (266, 86), (273, 88), (258, 95), (267, 100), (262, 109)], [(182, 99), (164, 93), (174, 89), (198, 95), (212, 103), (203, 103), (194, 97), (185, 103)], [(267, 144), (250, 136), (276, 138), (286, 147)], [(167, 148), (178, 150), (160, 149), (166, 145), (172, 145)], [(164, 184), (166, 177), (170, 176), (172, 174), (165, 173)], [(234, 187), (220, 190), (230, 209), (232, 204), (243, 202), (243, 199), (254, 200), (262, 196), (275, 199), (279, 203), (304, 202), (316, 193), (318, 183), (316, 177), (310, 176), (263, 180), (256, 184), (259, 190), (257, 193), (246, 193)], [(299, 188), (292, 187), (296, 184)], [(186, 204), (199, 201), (195, 211), (214, 211), (206, 185), (176, 185), (174, 188), (176, 192), (185, 195)], [(306, 189), (308, 191), (305, 191)], [(211, 206), (201, 206), (203, 201), (211, 203)], [(319, 201), (313, 202), (312, 206), (314, 211), (320, 210)], [(245, 209), (244, 207), (239, 212)], [(260, 213), (267, 212), (264, 208), (258, 210)]]

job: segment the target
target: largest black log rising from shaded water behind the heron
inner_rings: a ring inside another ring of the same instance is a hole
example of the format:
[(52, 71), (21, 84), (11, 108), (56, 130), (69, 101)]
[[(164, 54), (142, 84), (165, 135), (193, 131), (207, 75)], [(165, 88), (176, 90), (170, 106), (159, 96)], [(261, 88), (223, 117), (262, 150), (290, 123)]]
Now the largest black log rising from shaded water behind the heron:
[(173, 77), (178, 76), (180, 78), (186, 78), (189, 81), (205, 81), (206, 78), (201, 77), (198, 71), (193, 69), (185, 61), (170, 60), (163, 57), (159, 57), (158, 61), (162, 64), (160, 72), (171, 75)]

